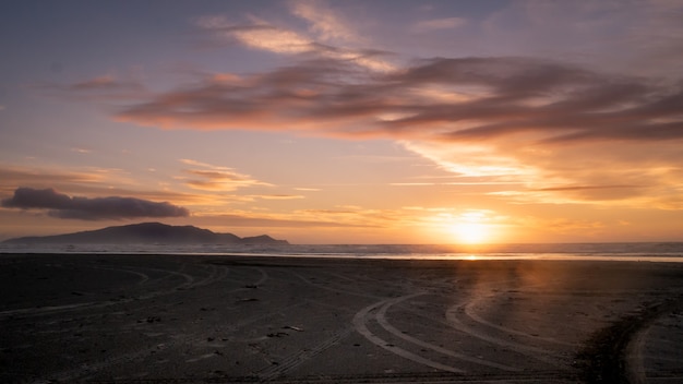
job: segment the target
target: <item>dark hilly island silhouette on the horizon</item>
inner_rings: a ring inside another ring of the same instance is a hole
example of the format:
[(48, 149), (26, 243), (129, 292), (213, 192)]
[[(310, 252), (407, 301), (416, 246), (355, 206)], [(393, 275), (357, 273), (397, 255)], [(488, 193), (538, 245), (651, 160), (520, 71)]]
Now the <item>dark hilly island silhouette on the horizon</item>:
[(232, 233), (216, 233), (194, 226), (170, 226), (161, 223), (141, 223), (107, 227), (82, 232), (14, 238), (3, 243), (173, 243), (173, 244), (288, 244), (267, 235), (240, 238)]

